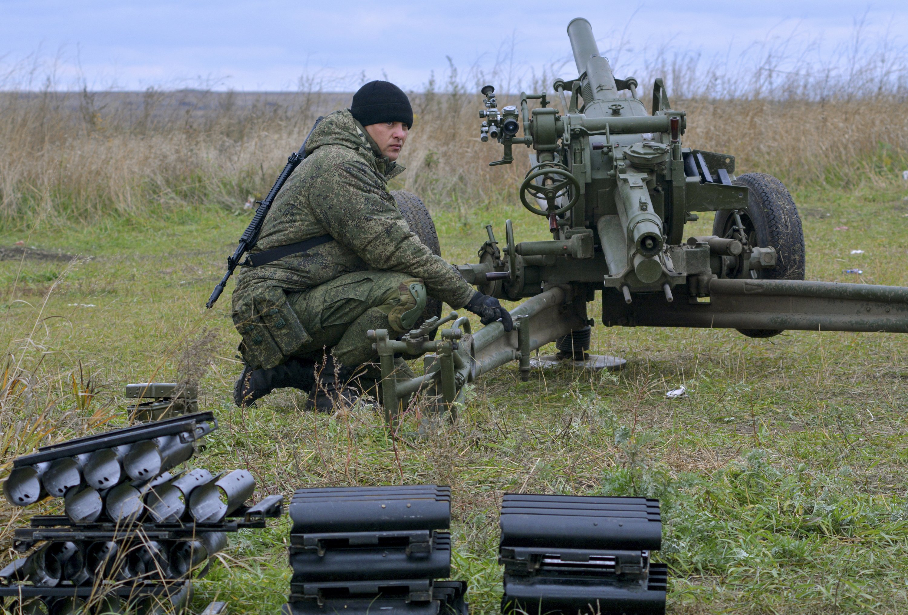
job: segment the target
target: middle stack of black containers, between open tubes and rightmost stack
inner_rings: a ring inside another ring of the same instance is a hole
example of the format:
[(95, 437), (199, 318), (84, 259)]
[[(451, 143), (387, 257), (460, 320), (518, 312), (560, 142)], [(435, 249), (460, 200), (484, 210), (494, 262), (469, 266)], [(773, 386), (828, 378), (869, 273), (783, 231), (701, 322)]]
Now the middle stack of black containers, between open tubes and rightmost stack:
[(301, 489), (290, 515), (284, 615), (467, 615), (467, 584), (447, 580), (449, 487)]

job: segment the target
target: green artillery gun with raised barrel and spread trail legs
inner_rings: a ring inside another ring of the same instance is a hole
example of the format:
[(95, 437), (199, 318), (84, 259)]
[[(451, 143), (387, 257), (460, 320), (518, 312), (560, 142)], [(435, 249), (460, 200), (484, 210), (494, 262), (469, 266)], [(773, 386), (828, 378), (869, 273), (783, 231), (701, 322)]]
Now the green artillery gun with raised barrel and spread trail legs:
[[(518, 243), (508, 220), (500, 245), (489, 226), (479, 263), (459, 266), (483, 293), (528, 298), (511, 312), (515, 331), (493, 322), (473, 334), (466, 318), (439, 320), (439, 309), (400, 340), (370, 332), (389, 421), (418, 391), (451, 409), (464, 383), (507, 362), (519, 361), (527, 380), (530, 352), (549, 342), (584, 357), (597, 291), (606, 326), (734, 328), (755, 338), (785, 329), (908, 332), (908, 288), (804, 281), (804, 233), (785, 185), (736, 176), (731, 154), (685, 147), (686, 114), (672, 108), (663, 81), (647, 113), (637, 80), (615, 78), (586, 19), (570, 22), (568, 38), (579, 76), (553, 84), (561, 111), (548, 94), (526, 92), (519, 109), (498, 109), (495, 89), (481, 90), (480, 139), (503, 146), (491, 164), (512, 163), (515, 146), (531, 148), (520, 203), (552, 234)], [(716, 213), (713, 234), (686, 238), (685, 223), (706, 212)], [(394, 377), (394, 353), (427, 351), (435, 354), (425, 375)]]

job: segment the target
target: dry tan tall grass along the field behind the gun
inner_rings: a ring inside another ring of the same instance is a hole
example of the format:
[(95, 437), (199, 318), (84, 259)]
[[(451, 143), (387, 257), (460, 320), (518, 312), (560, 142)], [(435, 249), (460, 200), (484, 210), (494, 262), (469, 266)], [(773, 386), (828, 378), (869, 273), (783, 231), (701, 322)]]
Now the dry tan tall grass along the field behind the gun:
[[(475, 89), (452, 74), (443, 88), (430, 82), (411, 94), (417, 119), (402, 181), (430, 206), (473, 209), (510, 198), (526, 168), (522, 148), (518, 164), (489, 168), (500, 147), (477, 138)], [(687, 112), (685, 144), (735, 154), (739, 172), (763, 171), (795, 186), (850, 186), (908, 168), (903, 88), (868, 91), (816, 99), (804, 88), (780, 96), (755, 84), (733, 97), (703, 90), (673, 102)], [(0, 93), (0, 224), (238, 206), (267, 191), (317, 114), (346, 104), (349, 94), (311, 91)]]

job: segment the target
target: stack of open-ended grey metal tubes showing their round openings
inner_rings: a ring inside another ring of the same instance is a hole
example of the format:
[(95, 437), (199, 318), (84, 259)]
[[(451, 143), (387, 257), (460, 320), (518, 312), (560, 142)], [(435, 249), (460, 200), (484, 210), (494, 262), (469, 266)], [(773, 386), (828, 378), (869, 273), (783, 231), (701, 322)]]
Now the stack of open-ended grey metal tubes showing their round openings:
[(13, 461), (7, 501), (62, 498), (64, 515), (15, 531), (25, 557), (0, 570), (7, 610), (74, 615), (84, 610), (152, 615), (183, 610), (192, 576), (227, 546), (227, 532), (264, 527), (282, 496), (247, 507), (246, 470), (178, 471), (195, 442), (217, 427), (197, 412), (46, 446)]

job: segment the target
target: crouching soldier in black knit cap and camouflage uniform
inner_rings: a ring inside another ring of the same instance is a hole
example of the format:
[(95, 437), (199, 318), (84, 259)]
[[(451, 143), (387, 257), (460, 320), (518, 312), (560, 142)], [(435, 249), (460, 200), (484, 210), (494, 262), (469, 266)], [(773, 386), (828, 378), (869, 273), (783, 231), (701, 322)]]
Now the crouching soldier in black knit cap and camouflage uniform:
[(351, 403), (360, 393), (351, 377), (376, 377), (360, 368), (377, 356), (366, 332), (410, 331), (427, 296), (511, 330), (508, 311), (421, 243), (388, 192), (412, 125), (407, 94), (373, 81), (312, 132), (262, 225), (255, 266), (233, 291), (245, 364), (238, 406), (281, 387), (309, 391), (308, 407), (319, 411)]

